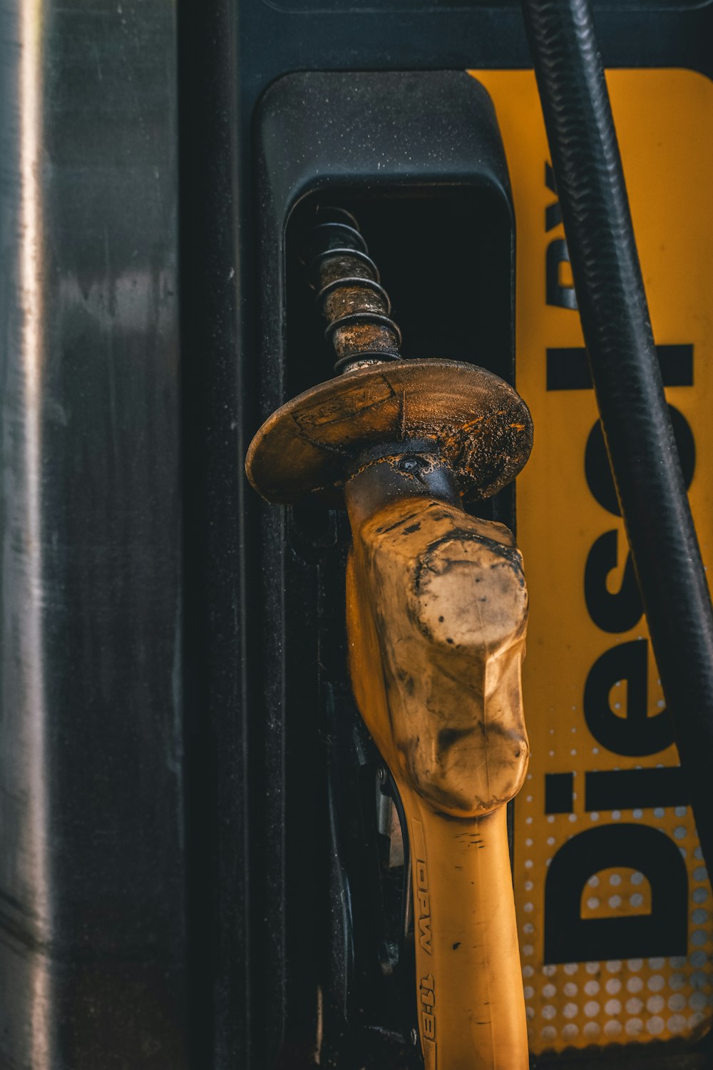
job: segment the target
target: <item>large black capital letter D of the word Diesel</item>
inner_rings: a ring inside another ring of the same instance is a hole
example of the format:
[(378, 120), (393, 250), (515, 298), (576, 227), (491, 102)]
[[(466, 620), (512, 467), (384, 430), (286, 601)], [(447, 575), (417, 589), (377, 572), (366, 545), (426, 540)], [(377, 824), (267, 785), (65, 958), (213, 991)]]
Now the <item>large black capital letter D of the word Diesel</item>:
[[(651, 886), (651, 913), (583, 918), (590, 876), (615, 867), (637, 869)], [(688, 875), (672, 840), (647, 825), (607, 825), (573, 837), (545, 878), (544, 961), (599, 962), (687, 953)]]

